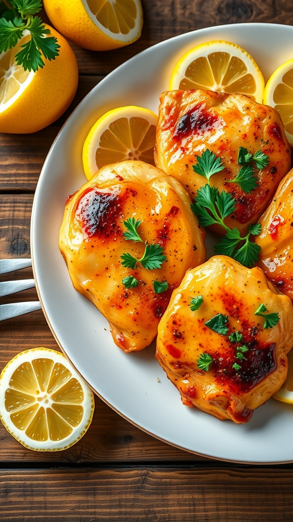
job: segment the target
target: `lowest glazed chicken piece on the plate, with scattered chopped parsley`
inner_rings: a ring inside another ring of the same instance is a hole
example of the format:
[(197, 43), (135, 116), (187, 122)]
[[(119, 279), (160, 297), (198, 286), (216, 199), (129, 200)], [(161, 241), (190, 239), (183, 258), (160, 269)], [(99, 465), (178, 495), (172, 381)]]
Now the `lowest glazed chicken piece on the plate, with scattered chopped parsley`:
[(260, 268), (214, 256), (174, 290), (156, 358), (184, 405), (241, 424), (282, 386), (292, 343), (290, 299)]

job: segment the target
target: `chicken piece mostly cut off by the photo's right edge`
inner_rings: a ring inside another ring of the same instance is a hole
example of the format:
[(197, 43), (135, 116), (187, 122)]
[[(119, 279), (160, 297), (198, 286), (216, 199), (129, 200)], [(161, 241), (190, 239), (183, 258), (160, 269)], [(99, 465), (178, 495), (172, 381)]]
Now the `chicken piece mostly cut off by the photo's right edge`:
[(258, 266), (275, 287), (293, 300), (293, 169), (280, 182), (261, 216)]

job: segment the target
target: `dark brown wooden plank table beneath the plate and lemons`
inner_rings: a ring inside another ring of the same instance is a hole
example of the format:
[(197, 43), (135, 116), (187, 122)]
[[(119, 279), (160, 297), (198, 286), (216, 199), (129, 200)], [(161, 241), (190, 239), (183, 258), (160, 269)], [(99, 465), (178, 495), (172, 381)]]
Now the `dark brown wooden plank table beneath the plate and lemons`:
[[(74, 107), (105, 75), (150, 45), (193, 29), (236, 22), (293, 23), (290, 0), (142, 3), (144, 26), (136, 43), (104, 53), (72, 45), (79, 87), (62, 118), (32, 135), (0, 135), (0, 258), (30, 257), (32, 201), (47, 152)], [(31, 269), (15, 277), (32, 277)], [(22, 298), (36, 299), (36, 291), (22, 292)], [(19, 296), (10, 296), (9, 301), (15, 300)], [(21, 350), (58, 349), (42, 311), (8, 319), (0, 328), (1, 370)], [(239, 465), (186, 453), (140, 431), (97, 397), (87, 434), (63, 452), (28, 450), (2, 424), (0, 440), (3, 522), (293, 520), (293, 464)]]

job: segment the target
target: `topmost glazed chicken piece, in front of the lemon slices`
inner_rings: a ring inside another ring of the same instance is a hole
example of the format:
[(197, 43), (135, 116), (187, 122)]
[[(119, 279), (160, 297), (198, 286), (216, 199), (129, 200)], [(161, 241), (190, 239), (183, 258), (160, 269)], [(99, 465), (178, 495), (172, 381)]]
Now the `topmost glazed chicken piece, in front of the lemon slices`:
[[(163, 92), (160, 100), (155, 164), (180, 181), (193, 199), (207, 180), (194, 172), (192, 165), (209, 149), (225, 166), (211, 177), (211, 184), (236, 199), (236, 209), (225, 223), (247, 233), (290, 169), (290, 148), (279, 114), (243, 94), (177, 90)], [(258, 186), (250, 194), (230, 182), (241, 167), (240, 147), (252, 155), (260, 150), (269, 160), (261, 170), (254, 167)], [(218, 226), (211, 228), (223, 234)]]

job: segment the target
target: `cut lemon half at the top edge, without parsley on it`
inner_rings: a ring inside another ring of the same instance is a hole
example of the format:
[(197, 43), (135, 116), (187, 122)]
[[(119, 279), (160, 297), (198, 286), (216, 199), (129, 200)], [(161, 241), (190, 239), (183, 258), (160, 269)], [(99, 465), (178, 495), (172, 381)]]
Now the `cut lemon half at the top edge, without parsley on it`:
[(140, 0), (44, 0), (43, 4), (57, 31), (85, 49), (117, 49), (141, 34)]

